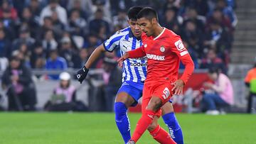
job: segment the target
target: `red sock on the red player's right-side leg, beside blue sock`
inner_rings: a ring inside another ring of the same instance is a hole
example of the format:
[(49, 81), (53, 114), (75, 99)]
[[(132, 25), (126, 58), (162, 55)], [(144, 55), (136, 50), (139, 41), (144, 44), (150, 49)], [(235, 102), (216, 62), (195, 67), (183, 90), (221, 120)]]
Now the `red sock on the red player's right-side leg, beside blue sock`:
[(171, 135), (164, 131), (159, 125), (153, 131), (150, 131), (153, 138), (161, 144), (176, 144), (176, 142), (171, 139)]

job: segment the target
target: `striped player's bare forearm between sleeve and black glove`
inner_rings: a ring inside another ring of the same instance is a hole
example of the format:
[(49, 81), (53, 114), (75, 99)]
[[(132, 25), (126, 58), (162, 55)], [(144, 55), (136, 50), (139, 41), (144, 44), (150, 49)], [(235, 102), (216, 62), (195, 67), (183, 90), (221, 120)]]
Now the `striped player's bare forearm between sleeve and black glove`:
[(85, 67), (89, 69), (92, 66), (92, 63), (97, 60), (97, 58), (100, 57), (102, 52), (105, 52), (105, 48), (103, 45), (98, 46), (93, 52), (92, 55), (90, 55), (89, 59), (85, 63)]

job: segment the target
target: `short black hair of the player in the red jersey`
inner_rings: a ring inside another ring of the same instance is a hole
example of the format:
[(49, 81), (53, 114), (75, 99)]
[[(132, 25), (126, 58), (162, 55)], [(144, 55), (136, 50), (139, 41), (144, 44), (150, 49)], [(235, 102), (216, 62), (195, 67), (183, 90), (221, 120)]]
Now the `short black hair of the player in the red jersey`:
[(156, 18), (156, 21), (159, 21), (156, 10), (150, 7), (145, 7), (141, 11), (139, 11), (137, 18), (146, 18), (151, 20), (152, 18)]

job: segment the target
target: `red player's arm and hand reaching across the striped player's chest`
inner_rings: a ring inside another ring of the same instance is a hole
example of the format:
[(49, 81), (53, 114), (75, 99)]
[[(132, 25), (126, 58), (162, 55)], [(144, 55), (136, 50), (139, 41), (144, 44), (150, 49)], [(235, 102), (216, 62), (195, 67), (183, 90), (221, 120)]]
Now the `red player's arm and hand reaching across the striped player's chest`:
[(144, 57), (145, 55), (146, 55), (146, 52), (144, 50), (144, 45), (142, 45), (141, 47), (139, 47), (135, 50), (125, 52), (124, 55), (122, 55), (122, 57), (120, 57), (119, 60), (117, 60), (117, 62), (118, 62), (119, 67), (122, 67), (122, 63), (127, 58), (138, 58), (138, 57)]

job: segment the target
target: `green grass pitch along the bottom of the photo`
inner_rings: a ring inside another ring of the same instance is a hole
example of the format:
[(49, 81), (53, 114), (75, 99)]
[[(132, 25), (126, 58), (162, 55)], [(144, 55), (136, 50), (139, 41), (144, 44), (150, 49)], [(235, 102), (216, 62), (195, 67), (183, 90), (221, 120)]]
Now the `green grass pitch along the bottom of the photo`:
[[(176, 114), (188, 144), (256, 143), (256, 115)], [(132, 130), (140, 117), (129, 113)], [(163, 121), (161, 126), (166, 129)], [(0, 113), (2, 144), (123, 143), (114, 113)], [(138, 144), (156, 143), (146, 131)]]

